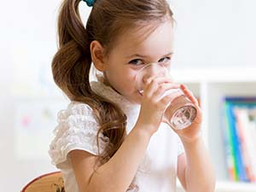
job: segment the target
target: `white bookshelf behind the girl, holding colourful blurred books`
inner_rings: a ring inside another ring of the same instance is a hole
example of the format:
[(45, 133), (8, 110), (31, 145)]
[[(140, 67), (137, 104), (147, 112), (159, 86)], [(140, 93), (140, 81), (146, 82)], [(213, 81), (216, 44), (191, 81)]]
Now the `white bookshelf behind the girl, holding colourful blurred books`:
[[(224, 96), (256, 96), (256, 67), (173, 69), (172, 76), (177, 82), (186, 84), (201, 100), (202, 131), (217, 175), (216, 192), (256, 191), (256, 183), (230, 181), (221, 130), (221, 99)], [(177, 186), (177, 191), (182, 192), (180, 184)]]

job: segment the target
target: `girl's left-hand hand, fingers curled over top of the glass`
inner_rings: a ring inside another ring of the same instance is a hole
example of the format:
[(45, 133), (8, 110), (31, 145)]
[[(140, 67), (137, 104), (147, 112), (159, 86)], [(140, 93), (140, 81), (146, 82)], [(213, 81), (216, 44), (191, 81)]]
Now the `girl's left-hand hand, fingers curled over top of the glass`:
[(167, 105), (173, 99), (172, 95), (163, 97), (164, 92), (179, 87), (180, 84), (172, 83), (170, 78), (153, 77), (148, 79), (143, 90), (141, 110), (136, 126), (153, 135), (160, 126)]

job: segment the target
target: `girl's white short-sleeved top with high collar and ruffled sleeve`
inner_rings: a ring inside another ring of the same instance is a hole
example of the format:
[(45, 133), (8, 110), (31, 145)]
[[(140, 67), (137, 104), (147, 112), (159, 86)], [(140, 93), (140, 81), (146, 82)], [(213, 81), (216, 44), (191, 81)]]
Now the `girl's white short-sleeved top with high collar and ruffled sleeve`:
[[(123, 109), (129, 133), (137, 121), (140, 107), (101, 82), (91, 82), (91, 88)], [(55, 138), (49, 146), (49, 155), (52, 163), (61, 169), (66, 192), (79, 192), (68, 153), (80, 149), (98, 155), (108, 145), (108, 137), (100, 134), (97, 148), (96, 134), (99, 125), (87, 104), (71, 102), (67, 109), (58, 113), (57, 119), (58, 125), (54, 131)], [(139, 192), (175, 192), (177, 156), (182, 153), (183, 146), (179, 138), (168, 125), (162, 123), (151, 137), (147, 153), (137, 170)]]

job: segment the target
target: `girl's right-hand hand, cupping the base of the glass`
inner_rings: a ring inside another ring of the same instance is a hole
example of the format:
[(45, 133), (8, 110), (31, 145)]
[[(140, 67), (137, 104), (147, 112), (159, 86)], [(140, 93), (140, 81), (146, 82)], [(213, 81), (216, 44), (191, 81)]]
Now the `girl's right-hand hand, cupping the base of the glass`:
[(184, 84), (181, 84), (180, 89), (183, 90), (184, 95), (189, 98), (190, 102), (195, 105), (197, 114), (194, 122), (189, 125), (189, 127), (183, 130), (173, 130), (177, 133), (183, 142), (190, 143), (195, 141), (195, 139), (201, 135), (201, 108), (199, 107), (199, 103), (193, 93)]

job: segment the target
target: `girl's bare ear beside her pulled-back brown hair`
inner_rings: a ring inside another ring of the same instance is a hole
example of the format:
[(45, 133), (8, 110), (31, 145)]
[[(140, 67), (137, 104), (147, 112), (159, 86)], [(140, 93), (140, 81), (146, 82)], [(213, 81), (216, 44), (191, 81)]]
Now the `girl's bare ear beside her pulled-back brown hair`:
[(90, 43), (91, 60), (97, 70), (103, 72), (106, 70), (106, 63), (104, 59), (104, 48), (102, 44), (96, 40)]

